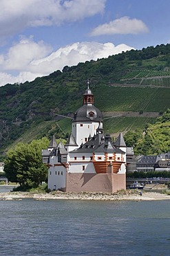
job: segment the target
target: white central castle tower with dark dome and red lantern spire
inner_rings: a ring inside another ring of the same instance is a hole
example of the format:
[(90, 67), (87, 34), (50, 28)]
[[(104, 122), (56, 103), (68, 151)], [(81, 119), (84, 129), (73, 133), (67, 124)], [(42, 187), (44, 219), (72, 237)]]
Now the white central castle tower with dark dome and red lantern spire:
[(96, 134), (99, 123), (103, 125), (103, 116), (99, 109), (94, 106), (94, 94), (89, 89), (83, 94), (83, 106), (74, 113), (72, 120), (72, 135), (78, 147), (86, 143), (89, 136)]

